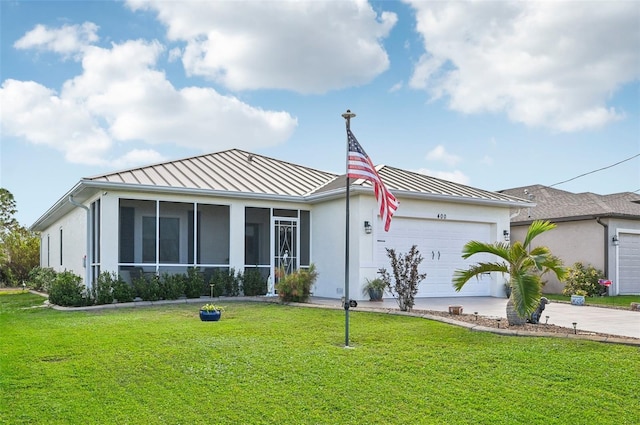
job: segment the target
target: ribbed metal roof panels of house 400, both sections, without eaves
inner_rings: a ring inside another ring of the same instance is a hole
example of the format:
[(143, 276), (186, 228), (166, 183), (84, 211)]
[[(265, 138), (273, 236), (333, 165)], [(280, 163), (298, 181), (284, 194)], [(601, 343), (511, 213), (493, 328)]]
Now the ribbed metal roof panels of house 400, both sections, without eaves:
[[(476, 189), (399, 168), (382, 165), (376, 168), (391, 191), (452, 199), (527, 203), (508, 194)], [(94, 176), (86, 180), (236, 193), (307, 196), (340, 189), (344, 187), (344, 179), (344, 175), (339, 176), (239, 149), (230, 149)], [(362, 179), (352, 181), (355, 186), (371, 186)]]

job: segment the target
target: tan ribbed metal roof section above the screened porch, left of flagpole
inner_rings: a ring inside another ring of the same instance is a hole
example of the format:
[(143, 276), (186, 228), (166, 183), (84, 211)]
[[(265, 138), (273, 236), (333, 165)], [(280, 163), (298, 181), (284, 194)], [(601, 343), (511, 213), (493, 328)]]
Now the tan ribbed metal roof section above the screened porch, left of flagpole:
[(87, 178), (87, 181), (268, 195), (305, 196), (335, 174), (230, 149)]

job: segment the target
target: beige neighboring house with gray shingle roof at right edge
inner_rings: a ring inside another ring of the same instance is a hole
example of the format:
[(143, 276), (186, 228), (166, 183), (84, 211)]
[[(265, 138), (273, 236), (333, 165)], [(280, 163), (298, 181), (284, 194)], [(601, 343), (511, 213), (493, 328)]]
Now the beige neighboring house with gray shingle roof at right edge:
[[(565, 266), (593, 265), (612, 281), (612, 295), (640, 294), (640, 195), (571, 193), (542, 185), (502, 190), (536, 204), (511, 218), (512, 238), (522, 239), (533, 220), (549, 220), (556, 229), (536, 238)], [(560, 293), (564, 285), (547, 276), (544, 291)]]

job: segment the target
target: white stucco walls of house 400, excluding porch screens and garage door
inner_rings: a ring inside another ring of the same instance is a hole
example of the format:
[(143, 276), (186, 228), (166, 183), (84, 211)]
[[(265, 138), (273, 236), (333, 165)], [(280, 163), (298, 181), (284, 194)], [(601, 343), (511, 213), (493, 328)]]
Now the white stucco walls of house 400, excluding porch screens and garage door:
[[(101, 271), (117, 272), (119, 262), (119, 207), (120, 199), (167, 201), (229, 206), (229, 266), (241, 271), (244, 268), (245, 207), (283, 208), (311, 211), (311, 262), (318, 270), (318, 281), (314, 295), (341, 298), (345, 282), (345, 199), (344, 197), (316, 204), (289, 203), (275, 200), (229, 199), (222, 197), (194, 196), (181, 194), (153, 194), (127, 191), (100, 191), (85, 204), (101, 200)], [(474, 222), (488, 224), (491, 241), (502, 240), (502, 232), (509, 229), (509, 209), (507, 207), (433, 202), (419, 199), (400, 199), (397, 218), (435, 220), (438, 214), (446, 215), (448, 223)], [(373, 226), (371, 234), (365, 233), (364, 221)], [(64, 259), (59, 264), (59, 229), (64, 235)], [(367, 278), (375, 278), (380, 259), (376, 254), (376, 238), (384, 235), (383, 224), (377, 215), (377, 203), (372, 193), (354, 194), (350, 198), (350, 273), (349, 296), (364, 299), (361, 288)], [(393, 221), (391, 223), (393, 229)], [(46, 237), (50, 238), (50, 264), (56, 270), (72, 270), (86, 275), (83, 265), (86, 254), (86, 212), (74, 208), (58, 222), (42, 232), (42, 264), (46, 265)], [(273, 245), (273, 241), (270, 242)], [(271, 247), (272, 248), (272, 247)], [(388, 264), (387, 264), (388, 265)], [(503, 295), (504, 278), (492, 276), (491, 295)]]

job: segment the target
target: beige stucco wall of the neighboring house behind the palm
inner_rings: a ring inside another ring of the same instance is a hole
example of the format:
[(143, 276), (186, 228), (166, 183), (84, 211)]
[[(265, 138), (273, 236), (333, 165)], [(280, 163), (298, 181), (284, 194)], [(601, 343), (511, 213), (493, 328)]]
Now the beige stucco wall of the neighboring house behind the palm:
[[(595, 220), (567, 221), (556, 223), (556, 228), (537, 236), (534, 246), (547, 246), (553, 255), (559, 257), (565, 267), (576, 262), (592, 265), (604, 270), (604, 232), (602, 225)], [(512, 241), (524, 239), (528, 226), (512, 229)], [(553, 273), (543, 276), (546, 282), (542, 291), (547, 294), (560, 294), (564, 283), (559, 282)]]

